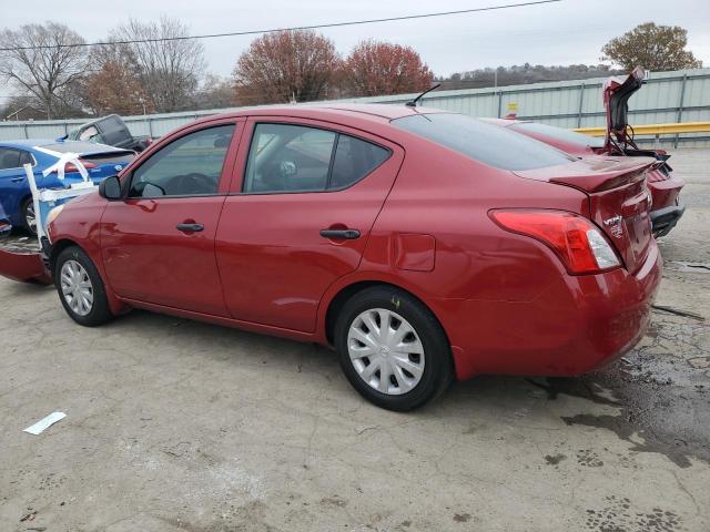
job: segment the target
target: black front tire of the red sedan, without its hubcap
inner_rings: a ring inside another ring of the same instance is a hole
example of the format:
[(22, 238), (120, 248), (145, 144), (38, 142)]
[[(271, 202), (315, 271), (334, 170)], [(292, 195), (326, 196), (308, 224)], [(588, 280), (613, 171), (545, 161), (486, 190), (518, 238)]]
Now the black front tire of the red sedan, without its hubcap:
[[(62, 289), (62, 268), (70, 260), (79, 263), (91, 283), (93, 303), (91, 305), (91, 309), (85, 315), (78, 314), (72, 309), (70, 303), (67, 300), (70, 296), (65, 296)], [(67, 310), (67, 314), (69, 314), (71, 319), (77, 321), (79, 325), (83, 325), (84, 327), (95, 327), (98, 325), (103, 325), (113, 318), (113, 314), (111, 314), (111, 309), (109, 308), (103, 280), (101, 279), (93, 262), (89, 258), (89, 255), (87, 255), (80, 247), (70, 246), (60, 252), (57, 260), (54, 262), (54, 286), (57, 287), (59, 300), (62, 303), (64, 310)]]

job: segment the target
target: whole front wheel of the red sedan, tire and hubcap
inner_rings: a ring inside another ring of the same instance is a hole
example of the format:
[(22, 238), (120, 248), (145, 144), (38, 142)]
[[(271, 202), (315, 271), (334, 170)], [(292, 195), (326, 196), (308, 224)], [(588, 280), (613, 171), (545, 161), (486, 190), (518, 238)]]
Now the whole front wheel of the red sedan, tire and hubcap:
[(78, 324), (94, 327), (113, 317), (103, 280), (83, 249), (70, 246), (60, 252), (54, 264), (54, 285), (64, 310)]

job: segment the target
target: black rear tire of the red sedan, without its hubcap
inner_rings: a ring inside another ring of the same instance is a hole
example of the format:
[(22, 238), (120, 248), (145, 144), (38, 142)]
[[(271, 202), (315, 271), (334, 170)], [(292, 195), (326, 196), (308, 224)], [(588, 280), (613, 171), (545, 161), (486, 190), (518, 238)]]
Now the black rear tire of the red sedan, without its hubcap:
[[(386, 309), (396, 313), (408, 321), (418, 336), (424, 347), (425, 364), (420, 380), (412, 390), (399, 395), (378, 391), (359, 376), (351, 361), (349, 328), (355, 319), (368, 309)], [(438, 320), (418, 299), (395, 287), (367, 288), (347, 300), (336, 318), (334, 344), (345, 377), (351, 385), (365, 399), (387, 410), (408, 411), (422, 407), (442, 395), (454, 377), (452, 350)]]

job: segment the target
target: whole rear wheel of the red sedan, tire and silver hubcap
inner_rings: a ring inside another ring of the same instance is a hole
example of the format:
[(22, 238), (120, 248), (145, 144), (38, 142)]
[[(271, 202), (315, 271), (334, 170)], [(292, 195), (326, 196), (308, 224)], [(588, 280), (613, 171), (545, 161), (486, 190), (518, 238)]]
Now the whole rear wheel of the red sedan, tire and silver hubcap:
[(353, 387), (389, 410), (420, 407), (453, 378), (442, 326), (418, 299), (394, 287), (353, 296), (335, 325), (335, 347)]

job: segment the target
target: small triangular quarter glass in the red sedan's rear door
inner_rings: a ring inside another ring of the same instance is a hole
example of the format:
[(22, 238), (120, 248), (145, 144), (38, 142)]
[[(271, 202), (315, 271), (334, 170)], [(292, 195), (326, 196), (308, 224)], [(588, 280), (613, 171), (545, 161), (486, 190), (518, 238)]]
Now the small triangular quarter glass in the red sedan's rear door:
[(354, 136), (338, 136), (328, 188), (357, 183), (389, 157), (389, 150)]

